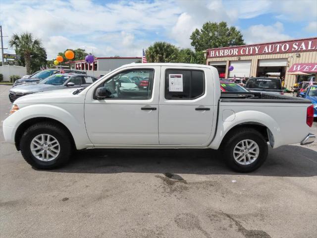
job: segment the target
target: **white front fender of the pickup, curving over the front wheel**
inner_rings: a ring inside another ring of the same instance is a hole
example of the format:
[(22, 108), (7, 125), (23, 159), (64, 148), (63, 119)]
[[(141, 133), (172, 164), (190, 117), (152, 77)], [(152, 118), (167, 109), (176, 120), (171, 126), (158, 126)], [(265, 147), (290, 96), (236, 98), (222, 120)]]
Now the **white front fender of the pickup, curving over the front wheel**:
[(77, 149), (91, 145), (87, 136), (84, 120), (84, 104), (34, 104), (24, 106), (3, 121), (3, 127), (10, 128), (10, 134), (5, 140), (14, 143), (17, 128), (24, 121), (34, 118), (50, 118), (64, 124), (72, 134)]

